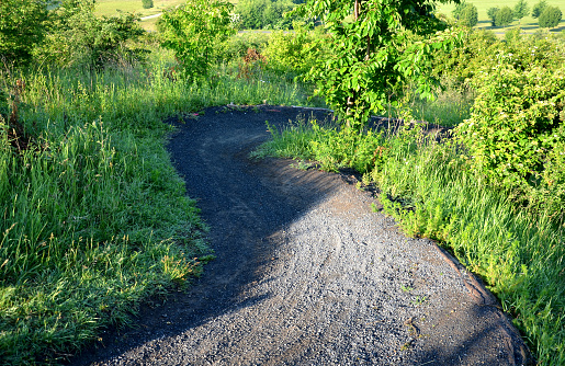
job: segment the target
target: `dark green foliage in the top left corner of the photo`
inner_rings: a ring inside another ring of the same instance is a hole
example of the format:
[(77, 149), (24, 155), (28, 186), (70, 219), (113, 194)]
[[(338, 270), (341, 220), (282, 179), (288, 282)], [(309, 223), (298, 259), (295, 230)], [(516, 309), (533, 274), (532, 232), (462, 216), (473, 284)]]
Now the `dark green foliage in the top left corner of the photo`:
[(48, 2), (0, 1), (0, 59), (8, 64), (31, 60), (33, 47), (45, 38)]

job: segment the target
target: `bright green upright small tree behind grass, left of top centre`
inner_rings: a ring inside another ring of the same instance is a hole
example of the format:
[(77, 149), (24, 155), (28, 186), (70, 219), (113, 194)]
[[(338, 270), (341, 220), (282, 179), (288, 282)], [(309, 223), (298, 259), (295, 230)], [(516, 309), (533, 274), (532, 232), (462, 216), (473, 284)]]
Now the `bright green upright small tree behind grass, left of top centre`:
[(189, 79), (205, 78), (221, 44), (235, 34), (231, 10), (226, 0), (187, 0), (163, 12), (158, 23), (161, 45), (174, 52)]

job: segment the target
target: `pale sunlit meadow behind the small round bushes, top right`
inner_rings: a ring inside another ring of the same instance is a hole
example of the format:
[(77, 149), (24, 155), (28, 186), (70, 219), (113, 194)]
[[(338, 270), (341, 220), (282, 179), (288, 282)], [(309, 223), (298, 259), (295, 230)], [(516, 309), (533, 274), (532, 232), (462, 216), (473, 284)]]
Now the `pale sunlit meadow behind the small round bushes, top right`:
[[(478, 24), (475, 26), (476, 28), (485, 28), (491, 30), (496, 33), (504, 33), (507, 30), (520, 27), (524, 33), (535, 33), (540, 30), (538, 25), (538, 19), (531, 16), (532, 7), (538, 3), (538, 0), (528, 1), (528, 5), (530, 7), (530, 13), (528, 16), (522, 18), (521, 21), (513, 21), (507, 27), (495, 27), (490, 25), (490, 19), (487, 15), (487, 10), (490, 8), (502, 8), (502, 7), (513, 7), (518, 3), (518, 0), (505, 1), (501, 3), (500, 1), (488, 1), (488, 0), (467, 0), (466, 2), (474, 4), (477, 7), (478, 11)], [(547, 3), (552, 7), (557, 7), (562, 12), (565, 13), (565, 0), (550, 0)], [(452, 11), (455, 9), (454, 3), (438, 3), (437, 12), (443, 13), (449, 16), (453, 16)], [(565, 30), (565, 19), (563, 19), (560, 25), (555, 28), (552, 28), (551, 32), (562, 32)]]

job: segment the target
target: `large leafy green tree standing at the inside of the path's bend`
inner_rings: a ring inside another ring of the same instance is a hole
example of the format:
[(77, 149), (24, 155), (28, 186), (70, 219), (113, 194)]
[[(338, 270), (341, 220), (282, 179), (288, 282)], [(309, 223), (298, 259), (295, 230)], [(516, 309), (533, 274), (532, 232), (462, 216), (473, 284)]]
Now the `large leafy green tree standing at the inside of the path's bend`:
[(456, 42), (427, 0), (308, 0), (296, 12), (328, 31), (319, 42), (329, 56), (307, 78), (350, 125), (396, 103), (408, 81), (432, 98), (431, 54)]

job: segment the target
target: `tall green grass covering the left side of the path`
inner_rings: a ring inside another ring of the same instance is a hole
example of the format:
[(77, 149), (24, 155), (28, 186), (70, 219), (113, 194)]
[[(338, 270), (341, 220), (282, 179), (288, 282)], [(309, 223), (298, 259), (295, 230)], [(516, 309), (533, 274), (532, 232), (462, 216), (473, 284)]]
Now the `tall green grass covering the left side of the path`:
[(156, 57), (99, 72), (1, 71), (4, 93), (15, 79), (25, 83), (19, 122), (32, 136), (18, 151), (0, 119), (1, 364), (59, 363), (211, 259), (165, 149), (166, 117), (228, 103), (309, 103), (297, 83), (222, 70), (187, 83), (167, 67)]

